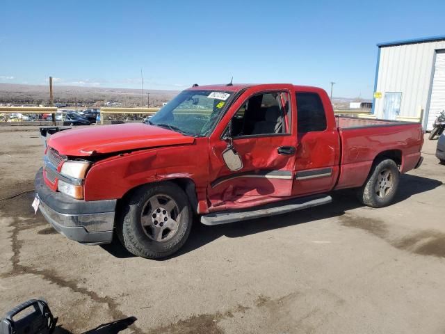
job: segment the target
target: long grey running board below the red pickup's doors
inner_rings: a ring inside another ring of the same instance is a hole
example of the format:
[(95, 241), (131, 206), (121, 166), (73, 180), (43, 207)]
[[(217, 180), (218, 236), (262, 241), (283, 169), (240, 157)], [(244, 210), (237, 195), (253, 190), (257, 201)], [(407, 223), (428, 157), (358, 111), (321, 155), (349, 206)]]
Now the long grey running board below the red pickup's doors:
[(332, 202), (332, 197), (326, 194), (294, 198), (250, 209), (212, 212), (201, 216), (201, 223), (204, 225), (219, 225), (236, 221), (247, 221), (248, 219), (273, 216), (275, 214), (286, 214), (287, 212), (316, 207), (330, 202)]

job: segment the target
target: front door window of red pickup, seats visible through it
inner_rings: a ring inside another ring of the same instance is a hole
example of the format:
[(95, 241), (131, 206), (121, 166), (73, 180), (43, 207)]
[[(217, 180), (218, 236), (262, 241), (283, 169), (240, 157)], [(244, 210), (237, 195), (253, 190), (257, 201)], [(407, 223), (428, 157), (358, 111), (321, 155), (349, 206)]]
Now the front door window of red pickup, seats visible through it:
[(232, 118), (232, 136), (289, 134), (289, 93), (268, 92), (250, 97)]

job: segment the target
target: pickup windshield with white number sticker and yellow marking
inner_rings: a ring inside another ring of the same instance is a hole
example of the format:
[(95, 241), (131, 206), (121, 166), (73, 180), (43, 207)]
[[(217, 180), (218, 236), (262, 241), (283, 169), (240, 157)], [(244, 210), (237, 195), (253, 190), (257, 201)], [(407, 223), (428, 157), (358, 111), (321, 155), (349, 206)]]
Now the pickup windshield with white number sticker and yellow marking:
[(147, 122), (189, 136), (207, 136), (232, 95), (216, 90), (184, 90)]

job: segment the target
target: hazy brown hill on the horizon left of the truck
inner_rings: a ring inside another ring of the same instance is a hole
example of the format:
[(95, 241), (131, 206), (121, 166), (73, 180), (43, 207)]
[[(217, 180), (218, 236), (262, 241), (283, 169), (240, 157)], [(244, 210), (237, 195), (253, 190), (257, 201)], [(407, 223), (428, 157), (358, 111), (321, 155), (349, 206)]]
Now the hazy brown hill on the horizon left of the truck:
[[(97, 88), (54, 85), (54, 103), (95, 104), (96, 102), (120, 102), (122, 106), (161, 106), (179, 93), (177, 90), (143, 90), (127, 88)], [(0, 84), (0, 103), (48, 104), (49, 86)]]

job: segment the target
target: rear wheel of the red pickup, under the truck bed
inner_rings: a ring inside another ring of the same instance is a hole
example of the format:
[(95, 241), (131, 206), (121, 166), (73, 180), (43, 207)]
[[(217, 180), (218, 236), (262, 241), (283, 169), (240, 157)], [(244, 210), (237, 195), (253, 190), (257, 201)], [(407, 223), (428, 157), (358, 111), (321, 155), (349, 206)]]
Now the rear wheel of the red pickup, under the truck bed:
[[(383, 175), (387, 172), (390, 177), (385, 181)], [(391, 180), (391, 187), (387, 188), (389, 180)], [(399, 180), (400, 171), (394, 160), (378, 159), (374, 162), (366, 182), (358, 189), (357, 197), (360, 202), (369, 207), (386, 207), (396, 196)]]

